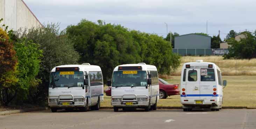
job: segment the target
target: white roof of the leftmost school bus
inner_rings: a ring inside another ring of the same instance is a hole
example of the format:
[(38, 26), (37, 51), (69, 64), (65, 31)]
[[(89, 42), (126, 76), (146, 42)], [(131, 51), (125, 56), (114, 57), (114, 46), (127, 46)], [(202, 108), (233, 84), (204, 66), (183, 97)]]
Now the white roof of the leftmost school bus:
[[(81, 65), (60, 65), (56, 67), (79, 67), (79, 71), (101, 71), (100, 66), (90, 65), (88, 63), (84, 63)], [(51, 72), (55, 72), (56, 67), (52, 68)]]

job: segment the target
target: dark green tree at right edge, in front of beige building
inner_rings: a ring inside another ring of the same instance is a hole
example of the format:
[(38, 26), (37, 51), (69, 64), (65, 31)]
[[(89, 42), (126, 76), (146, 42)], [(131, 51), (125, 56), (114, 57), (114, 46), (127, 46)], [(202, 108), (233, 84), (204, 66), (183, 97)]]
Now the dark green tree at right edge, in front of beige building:
[(256, 58), (256, 37), (250, 32), (243, 32), (246, 38), (236, 41), (234, 38), (228, 40), (229, 53), (225, 54), (224, 59), (251, 59)]

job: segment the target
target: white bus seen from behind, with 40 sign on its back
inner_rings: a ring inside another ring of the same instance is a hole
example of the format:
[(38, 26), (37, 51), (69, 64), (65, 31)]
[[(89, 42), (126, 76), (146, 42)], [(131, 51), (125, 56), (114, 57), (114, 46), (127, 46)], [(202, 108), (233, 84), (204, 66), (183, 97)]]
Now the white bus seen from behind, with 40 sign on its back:
[(185, 63), (180, 80), (180, 102), (183, 111), (191, 111), (192, 108), (219, 111), (226, 84), (226, 80), (222, 83), (221, 71), (216, 64), (202, 60)]

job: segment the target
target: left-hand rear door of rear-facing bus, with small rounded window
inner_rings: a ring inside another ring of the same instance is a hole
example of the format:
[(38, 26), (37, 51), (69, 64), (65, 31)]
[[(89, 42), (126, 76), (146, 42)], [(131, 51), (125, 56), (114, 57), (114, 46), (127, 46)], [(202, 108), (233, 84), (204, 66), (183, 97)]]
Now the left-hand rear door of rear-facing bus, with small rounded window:
[(187, 68), (186, 70), (186, 97), (200, 97), (200, 79), (198, 78), (200, 69)]

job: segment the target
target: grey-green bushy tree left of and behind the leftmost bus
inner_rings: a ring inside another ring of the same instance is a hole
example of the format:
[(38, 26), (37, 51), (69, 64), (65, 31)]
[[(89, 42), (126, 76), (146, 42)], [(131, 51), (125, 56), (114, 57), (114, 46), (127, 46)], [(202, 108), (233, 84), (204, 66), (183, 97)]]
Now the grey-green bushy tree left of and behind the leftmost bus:
[(37, 79), (42, 83), (33, 92), (30, 97), (33, 102), (44, 103), (47, 97), (48, 88), (45, 87), (45, 81), (49, 80), (50, 71), (58, 65), (77, 64), (79, 54), (74, 50), (73, 42), (68, 39), (65, 31), (59, 30), (59, 24), (47, 24), (42, 28), (32, 28), (19, 30), (15, 33), (18, 39), (26, 38), (27, 41), (32, 40), (39, 45), (43, 53), (40, 57), (40, 70)]

